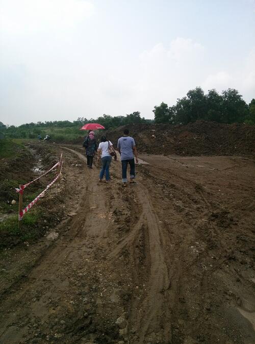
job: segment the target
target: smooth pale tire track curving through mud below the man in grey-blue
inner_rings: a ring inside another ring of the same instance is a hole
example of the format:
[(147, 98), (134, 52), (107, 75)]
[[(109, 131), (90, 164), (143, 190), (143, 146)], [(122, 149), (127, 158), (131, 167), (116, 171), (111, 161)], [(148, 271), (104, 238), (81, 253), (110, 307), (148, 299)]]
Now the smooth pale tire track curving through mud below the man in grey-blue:
[[(170, 337), (170, 326), (164, 326), (166, 318), (169, 317), (169, 307), (165, 301), (170, 280), (164, 258), (164, 238), (148, 190), (140, 182), (132, 188), (141, 208), (139, 218), (129, 234), (117, 243), (110, 253), (110, 259), (118, 258), (127, 250), (130, 256), (129, 269), (134, 283), (146, 285), (144, 296), (139, 300), (133, 297), (127, 309), (130, 313), (129, 330), (138, 335), (138, 338), (133, 339), (132, 342), (142, 344), (150, 341), (150, 338), (156, 340), (156, 337), (157, 340), (160, 338), (161, 342), (167, 342)], [(129, 190), (123, 189), (123, 192), (130, 196)], [(141, 256), (143, 256), (142, 262), (139, 261)]]

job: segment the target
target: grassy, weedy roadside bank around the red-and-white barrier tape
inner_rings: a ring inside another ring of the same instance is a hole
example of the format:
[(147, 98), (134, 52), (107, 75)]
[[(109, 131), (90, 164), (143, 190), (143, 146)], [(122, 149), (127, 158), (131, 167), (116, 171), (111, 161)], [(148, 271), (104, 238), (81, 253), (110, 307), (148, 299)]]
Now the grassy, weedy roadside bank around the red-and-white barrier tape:
[[(3, 249), (41, 236), (44, 232), (43, 221), (46, 214), (43, 207), (35, 205), (24, 215), (22, 230), (19, 229), (19, 195), (15, 188), (34, 179), (35, 173), (32, 167), (36, 161), (32, 154), (33, 150), (31, 151), (26, 142), (21, 139), (1, 139), (0, 148), (0, 249)], [(47, 164), (47, 152), (49, 151), (50, 148), (44, 148), (43, 151), (37, 152), (37, 154), (43, 154), (43, 164)], [(50, 157), (52, 156), (50, 155)], [(44, 182), (41, 180), (26, 188), (23, 193), (23, 208), (33, 201), (44, 188)], [(12, 204), (13, 200), (16, 201), (13, 202), (14, 204)]]

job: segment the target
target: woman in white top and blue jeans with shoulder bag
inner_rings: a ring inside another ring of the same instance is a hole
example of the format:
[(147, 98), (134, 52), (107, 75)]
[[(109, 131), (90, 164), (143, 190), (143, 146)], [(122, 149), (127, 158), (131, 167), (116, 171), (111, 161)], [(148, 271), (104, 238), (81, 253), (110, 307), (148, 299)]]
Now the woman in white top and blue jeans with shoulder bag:
[(99, 182), (102, 181), (102, 179), (104, 178), (104, 174), (106, 174), (106, 182), (110, 183), (109, 168), (111, 165), (113, 155), (114, 155), (114, 160), (117, 160), (117, 155), (113, 148), (112, 142), (107, 140), (105, 136), (102, 136), (99, 146), (98, 146), (98, 156), (97, 156), (97, 161), (101, 159), (101, 163), (102, 163), (101, 170), (99, 173)]

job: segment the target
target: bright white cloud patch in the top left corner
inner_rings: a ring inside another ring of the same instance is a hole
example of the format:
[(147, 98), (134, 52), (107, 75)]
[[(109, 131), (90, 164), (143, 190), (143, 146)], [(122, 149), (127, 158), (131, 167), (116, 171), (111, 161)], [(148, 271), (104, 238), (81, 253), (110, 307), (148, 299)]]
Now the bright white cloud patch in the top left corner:
[(94, 12), (83, 0), (1, 0), (1, 31), (9, 34), (37, 34), (69, 28)]

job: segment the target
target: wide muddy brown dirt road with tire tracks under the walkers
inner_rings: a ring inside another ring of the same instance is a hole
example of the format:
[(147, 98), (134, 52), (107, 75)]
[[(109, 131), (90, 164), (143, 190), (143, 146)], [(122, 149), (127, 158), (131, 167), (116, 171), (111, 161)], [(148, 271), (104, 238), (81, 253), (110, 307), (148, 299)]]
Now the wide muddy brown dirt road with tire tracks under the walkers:
[(254, 161), (141, 158), (123, 189), (119, 162), (98, 183), (79, 147), (64, 150), (66, 216), (2, 290), (2, 344), (255, 341)]

